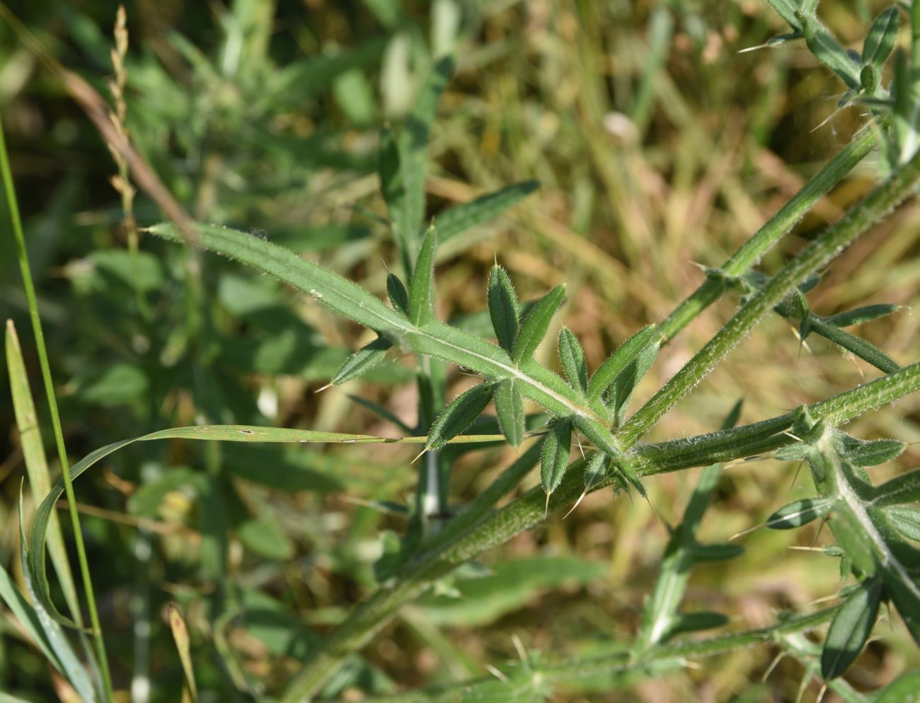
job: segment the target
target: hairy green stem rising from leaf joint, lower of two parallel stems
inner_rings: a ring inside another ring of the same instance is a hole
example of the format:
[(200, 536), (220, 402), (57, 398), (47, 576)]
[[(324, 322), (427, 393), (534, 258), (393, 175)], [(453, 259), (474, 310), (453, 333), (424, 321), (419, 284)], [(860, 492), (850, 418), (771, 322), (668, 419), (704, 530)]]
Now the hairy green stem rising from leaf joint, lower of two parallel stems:
[(731, 349), (751, 332), (780, 300), (812, 273), (827, 264), (857, 237), (880, 221), (913, 192), (920, 178), (920, 156), (914, 156), (885, 183), (875, 188), (845, 218), (828, 227), (765, 286), (745, 302), (734, 317), (673, 375), (616, 433), (623, 448), (630, 448), (686, 393), (703, 380)]

